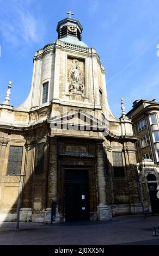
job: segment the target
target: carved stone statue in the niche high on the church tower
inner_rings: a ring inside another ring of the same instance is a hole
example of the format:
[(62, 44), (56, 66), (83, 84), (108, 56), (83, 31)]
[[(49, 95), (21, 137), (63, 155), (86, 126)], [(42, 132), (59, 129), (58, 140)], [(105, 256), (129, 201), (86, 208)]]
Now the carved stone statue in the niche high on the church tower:
[(79, 67), (77, 59), (72, 60), (72, 66), (69, 72), (69, 92), (73, 93), (84, 93), (84, 86), (82, 84), (82, 72)]

